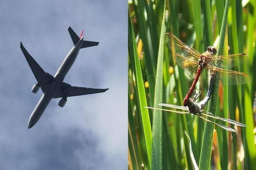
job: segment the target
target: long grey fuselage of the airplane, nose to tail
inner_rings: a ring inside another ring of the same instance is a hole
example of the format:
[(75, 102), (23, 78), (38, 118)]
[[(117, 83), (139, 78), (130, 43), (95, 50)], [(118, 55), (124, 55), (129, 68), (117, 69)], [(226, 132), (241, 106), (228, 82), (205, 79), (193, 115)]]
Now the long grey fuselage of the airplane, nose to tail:
[(48, 104), (50, 103), (52, 98), (54, 98), (55, 93), (60, 88), (60, 83), (63, 82), (66, 74), (68, 73), (72, 64), (76, 60), (76, 57), (77, 57), (77, 55), (79, 53), (79, 50), (80, 50), (80, 47), (82, 45), (82, 41), (83, 41), (83, 37), (80, 38), (78, 43), (74, 47), (72, 47), (72, 49), (66, 55), (64, 61), (60, 65), (56, 74), (54, 75), (54, 80), (55, 81), (52, 82), (50, 88), (47, 89), (46, 92), (44, 92), (44, 94), (40, 98), (38, 104), (34, 108), (32, 114), (30, 115), (30, 118), (29, 118), (29, 121), (28, 121), (28, 129), (33, 127), (38, 122), (38, 120), (40, 119), (40, 117), (44, 113), (44, 110), (46, 109), (46, 107), (48, 106)]

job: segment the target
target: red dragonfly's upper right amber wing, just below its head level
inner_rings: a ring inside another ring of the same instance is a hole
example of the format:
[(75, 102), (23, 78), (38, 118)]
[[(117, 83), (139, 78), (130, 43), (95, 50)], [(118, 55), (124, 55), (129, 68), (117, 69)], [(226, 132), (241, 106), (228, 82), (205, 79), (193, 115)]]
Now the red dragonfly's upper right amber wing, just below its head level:
[[(249, 56), (245, 53), (232, 54), (232, 55), (211, 55), (205, 59), (205, 62), (216, 66), (218, 68), (228, 68), (238, 66), (242, 63), (246, 63), (249, 59)], [(215, 64), (215, 61), (218, 64)]]

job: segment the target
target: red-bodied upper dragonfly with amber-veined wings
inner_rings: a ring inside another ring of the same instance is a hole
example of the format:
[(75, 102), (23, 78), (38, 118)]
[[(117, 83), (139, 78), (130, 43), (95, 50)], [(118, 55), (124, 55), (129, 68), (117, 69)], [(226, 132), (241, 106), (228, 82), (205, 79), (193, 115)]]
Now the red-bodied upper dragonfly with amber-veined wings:
[(200, 54), (192, 47), (182, 43), (172, 33), (165, 34), (165, 42), (172, 51), (176, 63), (184, 69), (188, 76), (194, 79), (184, 98), (184, 106), (188, 106), (189, 98), (203, 70), (206, 70), (205, 74), (208, 79), (211, 74), (218, 73), (216, 74), (216, 78), (220, 79), (224, 85), (237, 85), (250, 82), (250, 77), (243, 72), (223, 69), (223, 67), (234, 67), (248, 61), (248, 55), (245, 53), (216, 55), (217, 49), (210, 46), (205, 53)]

